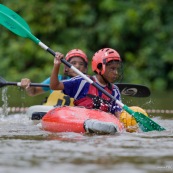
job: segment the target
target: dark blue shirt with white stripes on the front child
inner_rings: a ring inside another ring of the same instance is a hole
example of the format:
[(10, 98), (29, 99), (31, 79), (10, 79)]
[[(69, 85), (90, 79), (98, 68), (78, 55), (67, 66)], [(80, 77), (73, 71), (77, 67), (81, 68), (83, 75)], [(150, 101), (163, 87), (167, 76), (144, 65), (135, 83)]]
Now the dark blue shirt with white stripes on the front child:
[[(62, 80), (64, 84), (64, 94), (69, 95), (70, 97), (74, 98), (75, 100), (79, 100), (81, 98), (86, 97), (90, 83), (88, 83), (86, 80), (84, 80), (82, 77), (77, 76), (73, 77), (69, 80)], [(99, 85), (99, 83), (97, 83)], [(101, 86), (103, 89), (104, 86)], [(113, 91), (112, 95), (115, 96), (115, 98), (119, 101), (121, 101), (121, 94), (116, 85), (113, 85)], [(102, 92), (98, 90), (99, 96), (102, 95)], [(122, 108), (115, 103), (115, 101), (112, 101), (110, 103), (111, 105), (111, 113), (122, 111)]]

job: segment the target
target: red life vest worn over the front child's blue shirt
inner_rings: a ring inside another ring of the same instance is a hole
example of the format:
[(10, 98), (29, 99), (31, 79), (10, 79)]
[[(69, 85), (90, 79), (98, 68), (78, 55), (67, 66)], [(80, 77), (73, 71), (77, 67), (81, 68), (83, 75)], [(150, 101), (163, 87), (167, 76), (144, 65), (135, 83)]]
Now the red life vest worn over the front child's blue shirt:
[[(94, 79), (92, 79), (94, 81)], [(81, 87), (79, 87), (81, 88)], [(109, 94), (113, 94), (112, 85), (109, 89), (108, 86), (104, 88)], [(82, 90), (82, 89), (81, 89)], [(99, 91), (93, 85), (89, 85), (89, 90), (86, 97), (74, 101), (75, 106), (84, 106), (88, 109), (100, 109), (105, 112), (111, 112), (111, 99), (105, 94), (99, 96)]]

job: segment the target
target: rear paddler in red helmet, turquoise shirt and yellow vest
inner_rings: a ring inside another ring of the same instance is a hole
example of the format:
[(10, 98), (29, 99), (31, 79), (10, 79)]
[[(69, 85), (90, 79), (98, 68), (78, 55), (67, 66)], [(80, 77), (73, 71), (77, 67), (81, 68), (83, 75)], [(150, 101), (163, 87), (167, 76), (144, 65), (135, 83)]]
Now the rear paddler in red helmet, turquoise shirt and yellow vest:
[[(87, 73), (88, 70), (88, 58), (86, 54), (80, 49), (72, 49), (67, 54), (65, 59), (80, 70), (82, 73)], [(58, 80), (70, 79), (77, 76), (72, 69), (67, 66), (64, 67), (64, 76), (57, 75)], [(55, 106), (55, 105), (73, 105), (73, 99), (69, 96), (65, 96), (61, 91), (53, 91), (49, 87), (30, 87), (31, 80), (28, 78), (23, 78), (21, 80), (21, 87), (25, 88), (27, 94), (30, 96), (36, 96), (50, 91), (45, 105)], [(50, 77), (42, 82), (42, 84), (50, 84)]]

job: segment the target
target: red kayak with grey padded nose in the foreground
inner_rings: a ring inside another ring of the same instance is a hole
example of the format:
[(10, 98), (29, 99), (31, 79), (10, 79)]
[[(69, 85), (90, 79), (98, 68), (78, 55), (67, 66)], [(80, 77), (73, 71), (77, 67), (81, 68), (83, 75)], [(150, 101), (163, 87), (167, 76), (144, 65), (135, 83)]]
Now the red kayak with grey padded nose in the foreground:
[(114, 115), (94, 109), (63, 106), (54, 108), (42, 118), (42, 128), (50, 132), (105, 133), (123, 131)]

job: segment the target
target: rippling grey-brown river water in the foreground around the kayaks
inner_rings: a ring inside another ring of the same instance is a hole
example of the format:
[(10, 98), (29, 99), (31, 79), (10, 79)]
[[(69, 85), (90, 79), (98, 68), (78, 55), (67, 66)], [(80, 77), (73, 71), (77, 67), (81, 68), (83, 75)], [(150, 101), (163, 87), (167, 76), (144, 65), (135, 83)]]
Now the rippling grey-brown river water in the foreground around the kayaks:
[(24, 111), (3, 111), (0, 173), (173, 172), (173, 114), (152, 114), (152, 119), (166, 131), (89, 136), (46, 132)]

